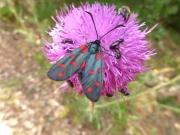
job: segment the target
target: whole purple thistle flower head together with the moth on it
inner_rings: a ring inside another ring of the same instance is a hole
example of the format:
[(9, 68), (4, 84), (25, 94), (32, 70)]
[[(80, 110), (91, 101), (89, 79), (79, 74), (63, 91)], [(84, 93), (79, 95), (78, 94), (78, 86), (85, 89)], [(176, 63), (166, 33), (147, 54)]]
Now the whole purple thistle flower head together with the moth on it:
[(64, 81), (60, 90), (74, 88), (93, 102), (104, 96), (118, 98), (118, 93), (128, 95), (128, 84), (150, 69), (143, 63), (155, 54), (147, 35), (157, 25), (142, 30), (145, 22), (137, 18), (124, 6), (117, 13), (116, 5), (99, 2), (60, 8), (47, 32), (52, 40), (44, 40), (42, 47), (54, 64), (48, 76)]

